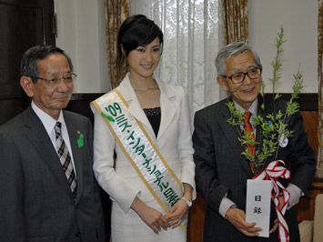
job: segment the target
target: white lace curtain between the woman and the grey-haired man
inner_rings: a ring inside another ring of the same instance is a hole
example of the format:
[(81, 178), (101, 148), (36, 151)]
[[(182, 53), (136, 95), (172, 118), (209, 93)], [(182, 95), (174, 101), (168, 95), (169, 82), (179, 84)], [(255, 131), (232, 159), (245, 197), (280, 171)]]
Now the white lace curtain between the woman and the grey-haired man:
[(218, 0), (129, 1), (129, 15), (146, 15), (163, 31), (164, 49), (156, 75), (187, 89), (191, 117), (226, 96), (217, 85), (215, 66), (223, 45), (220, 5)]

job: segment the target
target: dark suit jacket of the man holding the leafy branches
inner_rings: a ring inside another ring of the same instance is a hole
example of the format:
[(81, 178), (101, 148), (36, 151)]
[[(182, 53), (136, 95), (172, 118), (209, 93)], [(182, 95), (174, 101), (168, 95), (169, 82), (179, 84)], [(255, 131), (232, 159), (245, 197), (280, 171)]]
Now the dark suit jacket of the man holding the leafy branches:
[[(229, 99), (232, 101), (232, 99)], [(258, 96), (259, 114), (262, 98)], [(224, 217), (218, 214), (222, 198), (227, 197), (237, 204), (237, 208), (246, 211), (247, 179), (253, 177), (247, 159), (241, 155), (244, 147), (240, 145), (238, 128), (227, 123), (231, 116), (227, 106), (227, 99), (198, 111), (195, 116), (193, 144), (195, 148), (197, 191), (207, 201), (207, 215), (205, 223), (204, 241), (278, 241), (278, 230), (270, 239), (261, 237), (246, 237), (233, 227)], [(276, 110), (284, 112), (286, 103), (276, 102)], [(265, 101), (265, 115), (274, 111), (272, 100)], [(288, 146), (279, 147), (278, 159), (287, 163), (291, 171), (291, 178), (283, 181), (298, 186), (308, 195), (312, 179), (315, 174), (315, 155), (308, 145), (308, 135), (304, 131), (303, 119), (300, 113), (292, 116), (289, 130), (295, 130), (293, 137), (288, 139)], [(261, 129), (257, 128), (256, 140), (261, 137)], [(274, 157), (267, 160), (272, 161)], [(276, 218), (274, 206), (271, 221)], [(290, 241), (299, 240), (298, 223), (295, 209), (286, 213)]]

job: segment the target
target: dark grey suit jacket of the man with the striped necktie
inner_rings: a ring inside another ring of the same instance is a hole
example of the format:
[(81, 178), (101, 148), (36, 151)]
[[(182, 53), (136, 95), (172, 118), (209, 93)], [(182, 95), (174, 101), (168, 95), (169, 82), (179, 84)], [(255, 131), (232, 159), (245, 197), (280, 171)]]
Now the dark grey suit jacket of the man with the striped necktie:
[[(93, 175), (89, 119), (64, 111), (77, 176), (76, 201), (56, 149), (29, 106), (0, 127), (0, 241), (105, 241)], [(78, 148), (77, 131), (84, 135)]]

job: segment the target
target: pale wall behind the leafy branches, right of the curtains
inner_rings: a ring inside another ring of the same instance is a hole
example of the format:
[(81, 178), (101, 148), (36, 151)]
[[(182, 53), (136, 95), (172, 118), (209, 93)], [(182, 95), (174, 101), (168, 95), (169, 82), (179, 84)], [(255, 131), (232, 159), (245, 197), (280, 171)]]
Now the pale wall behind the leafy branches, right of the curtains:
[[(272, 77), (279, 27), (285, 30), (282, 78), (276, 92), (291, 93), (293, 74), (304, 76), (303, 93), (318, 93), (318, 0), (249, 0), (249, 42), (264, 66), (263, 80)], [(271, 92), (272, 88), (265, 89)]]

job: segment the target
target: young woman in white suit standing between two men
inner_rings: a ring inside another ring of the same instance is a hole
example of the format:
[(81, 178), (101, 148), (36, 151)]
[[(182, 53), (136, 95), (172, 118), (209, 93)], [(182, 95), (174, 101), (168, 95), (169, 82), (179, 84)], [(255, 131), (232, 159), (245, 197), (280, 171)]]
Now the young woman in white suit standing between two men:
[[(153, 21), (144, 15), (128, 17), (118, 33), (118, 60), (126, 60), (129, 73), (116, 90), (126, 100), (127, 112), (143, 126), (180, 181), (181, 194), (172, 207), (163, 209), (129, 162), (100, 108), (91, 105), (95, 115), (94, 170), (99, 185), (113, 201), (113, 242), (187, 241), (188, 208), (196, 197), (189, 108), (181, 86), (171, 86), (153, 74), (162, 45), (163, 34)], [(95, 102), (105, 103), (113, 93)]]

